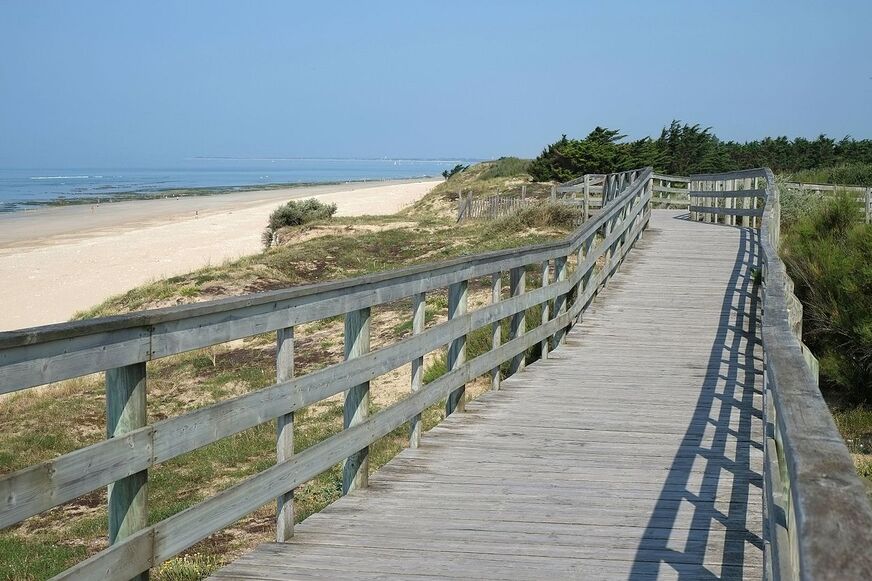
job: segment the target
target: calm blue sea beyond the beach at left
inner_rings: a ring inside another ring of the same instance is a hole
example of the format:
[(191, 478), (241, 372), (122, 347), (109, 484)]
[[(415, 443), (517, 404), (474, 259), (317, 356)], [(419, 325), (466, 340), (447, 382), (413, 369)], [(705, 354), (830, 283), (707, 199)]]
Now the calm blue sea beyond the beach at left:
[(0, 169), (0, 212), (49, 202), (154, 195), (177, 188), (234, 188), (439, 176), (458, 160), (204, 159), (173, 168)]

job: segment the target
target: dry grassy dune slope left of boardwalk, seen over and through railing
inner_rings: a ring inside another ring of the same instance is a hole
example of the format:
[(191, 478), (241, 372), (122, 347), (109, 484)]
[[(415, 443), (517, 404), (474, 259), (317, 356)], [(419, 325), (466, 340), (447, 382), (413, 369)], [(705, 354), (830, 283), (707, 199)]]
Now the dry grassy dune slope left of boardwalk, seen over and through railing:
[[(480, 187), (481, 172), (494, 165), (474, 166), (440, 185), (415, 207), (388, 217), (341, 218), (289, 228), (277, 233), (278, 247), (259, 255), (187, 275), (144, 285), (113, 297), (80, 318), (95, 317), (171, 304), (208, 300), (232, 294), (305, 284), (431, 262), (463, 254), (533, 244), (564, 237), (571, 216), (546, 210), (526, 211), (496, 222), (454, 223), (451, 193), (459, 183)], [(462, 179), (461, 179), (462, 178)], [(514, 187), (523, 177), (489, 178), (489, 185)], [(494, 188), (497, 189), (497, 188)], [(562, 221), (561, 221), (562, 220)], [(537, 273), (528, 286), (538, 286)], [(508, 282), (503, 285), (508, 289)], [(470, 307), (489, 302), (489, 280), (473, 281)], [(373, 348), (411, 333), (410, 301), (373, 310)], [(428, 295), (427, 325), (447, 316), (445, 291)], [(528, 328), (538, 324), (531, 309)], [(295, 338), (295, 373), (302, 375), (342, 359), (340, 317), (301, 325)], [(504, 331), (505, 332), (505, 331)], [(470, 337), (469, 356), (490, 348), (490, 330)], [(531, 356), (535, 356), (531, 353)], [(210, 349), (193, 351), (148, 364), (149, 422), (261, 389), (275, 380), (274, 334), (251, 337)], [(426, 380), (444, 372), (444, 353), (426, 358)], [(373, 411), (390, 405), (409, 391), (406, 365), (372, 382)], [(488, 382), (474, 383), (476, 395)], [(105, 394), (101, 375), (29, 390), (0, 406), (0, 473), (11, 472), (55, 457), (105, 437)], [(442, 417), (442, 407), (424, 414), (425, 428)], [(63, 422), (57, 421), (63, 418)], [(296, 414), (295, 448), (303, 450), (342, 428), (342, 399), (334, 397)], [(371, 462), (378, 467), (405, 445), (400, 428), (373, 446)], [(150, 472), (149, 520), (177, 513), (275, 462), (275, 427), (267, 423), (200, 450), (165, 462)], [(296, 493), (296, 518), (320, 510), (340, 493), (336, 466)], [(105, 547), (106, 495), (95, 491), (83, 498), (0, 531), (0, 579), (43, 579)], [(272, 505), (212, 535), (184, 555), (159, 567), (159, 580), (199, 579), (246, 549), (274, 538)]]

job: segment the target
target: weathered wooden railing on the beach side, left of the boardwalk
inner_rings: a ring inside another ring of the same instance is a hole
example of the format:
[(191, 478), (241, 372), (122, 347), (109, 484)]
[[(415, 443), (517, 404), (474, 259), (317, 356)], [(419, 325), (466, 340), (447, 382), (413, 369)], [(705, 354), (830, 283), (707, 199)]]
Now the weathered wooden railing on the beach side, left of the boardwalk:
[[(343, 463), (343, 492), (367, 485), (368, 449), (410, 423), (410, 445), (421, 437), (421, 414), (446, 401), (446, 414), (463, 407), (465, 385), (500, 365), (525, 365), (534, 345), (542, 354), (559, 346), (619, 267), (650, 217), (652, 170), (637, 170), (611, 203), (559, 242), (478, 254), (436, 264), (199, 304), (0, 333), (0, 394), (105, 371), (109, 439), (53, 460), (0, 476), (0, 528), (21, 522), (103, 486), (109, 487), (111, 545), (59, 579), (130, 579), (208, 535), (277, 499), (277, 538), (293, 534), (293, 490)], [(619, 182), (615, 182), (619, 183)], [(544, 273), (542, 286), (525, 288), (526, 271)], [(500, 300), (508, 272), (510, 297)], [(553, 280), (552, 276), (553, 274)], [(467, 311), (469, 281), (490, 277), (493, 302)], [(448, 288), (449, 318), (424, 328), (426, 293)], [(371, 309), (412, 299), (413, 335), (371, 351)], [(526, 310), (543, 306), (541, 324), (527, 330)], [(293, 377), (294, 327), (345, 318), (345, 361)], [(500, 322), (510, 319), (503, 342)], [(492, 329), (489, 351), (468, 359), (466, 338)], [(276, 383), (178, 417), (147, 424), (146, 362), (244, 337), (275, 333)], [(448, 346), (448, 371), (427, 385), (423, 358)], [(410, 396), (370, 416), (369, 382), (412, 362)], [(295, 454), (294, 411), (345, 394), (344, 429)], [(222, 438), (276, 421), (276, 463), (200, 504), (149, 525), (148, 471), (160, 462)]]

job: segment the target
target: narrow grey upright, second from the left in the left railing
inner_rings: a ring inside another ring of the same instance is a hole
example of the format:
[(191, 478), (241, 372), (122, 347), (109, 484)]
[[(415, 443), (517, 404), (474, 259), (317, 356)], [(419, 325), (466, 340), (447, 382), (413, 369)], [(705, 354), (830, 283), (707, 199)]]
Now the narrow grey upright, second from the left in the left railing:
[[(276, 331), (276, 382), (294, 377), (294, 328)], [(276, 462), (281, 464), (294, 456), (294, 412), (276, 418)], [(294, 491), (288, 490), (276, 498), (276, 542), (284, 543), (294, 536)]]

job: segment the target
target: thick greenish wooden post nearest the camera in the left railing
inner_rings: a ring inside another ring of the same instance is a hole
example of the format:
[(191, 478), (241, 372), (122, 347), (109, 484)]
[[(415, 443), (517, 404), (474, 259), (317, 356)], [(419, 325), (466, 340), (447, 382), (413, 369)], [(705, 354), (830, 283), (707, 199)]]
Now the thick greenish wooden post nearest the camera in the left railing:
[[(124, 437), (147, 421), (145, 363), (107, 370), (106, 437)], [(108, 488), (109, 544), (115, 544), (148, 525), (148, 470), (117, 480)], [(134, 579), (145, 581), (148, 571)]]

